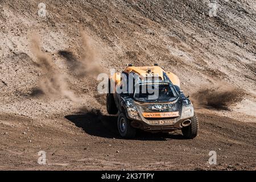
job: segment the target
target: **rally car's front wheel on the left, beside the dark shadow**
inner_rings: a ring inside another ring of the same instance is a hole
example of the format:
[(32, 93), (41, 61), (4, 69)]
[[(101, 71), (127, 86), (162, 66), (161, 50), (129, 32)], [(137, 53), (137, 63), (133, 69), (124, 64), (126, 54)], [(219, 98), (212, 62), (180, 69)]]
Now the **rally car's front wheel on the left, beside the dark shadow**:
[(136, 134), (136, 129), (131, 126), (130, 119), (127, 119), (125, 114), (120, 113), (118, 115), (117, 127), (119, 134), (123, 138), (133, 138)]

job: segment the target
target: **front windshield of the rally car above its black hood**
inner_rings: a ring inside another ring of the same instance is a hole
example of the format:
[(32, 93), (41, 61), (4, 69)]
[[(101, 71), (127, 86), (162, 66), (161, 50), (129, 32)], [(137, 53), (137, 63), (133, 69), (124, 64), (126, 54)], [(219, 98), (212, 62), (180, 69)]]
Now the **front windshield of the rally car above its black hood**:
[(134, 99), (141, 102), (170, 102), (178, 97), (173, 85), (166, 82), (135, 86)]

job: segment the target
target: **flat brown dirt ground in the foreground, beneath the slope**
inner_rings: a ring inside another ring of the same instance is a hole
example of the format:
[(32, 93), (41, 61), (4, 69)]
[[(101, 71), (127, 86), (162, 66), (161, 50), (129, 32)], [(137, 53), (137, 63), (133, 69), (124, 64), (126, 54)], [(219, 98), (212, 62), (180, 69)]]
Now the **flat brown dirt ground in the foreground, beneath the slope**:
[[(115, 117), (77, 113), (57, 118), (52, 118), (53, 127), (49, 123), (36, 125), (26, 117), (2, 115), (1, 129), (8, 134), (1, 137), (1, 169), (255, 170), (255, 123), (200, 113), (196, 139), (184, 139), (177, 132), (139, 133), (137, 138), (125, 140), (118, 137)], [(45, 166), (37, 163), (40, 150), (47, 152)], [(212, 150), (217, 152), (217, 165), (210, 166), (208, 153)]]

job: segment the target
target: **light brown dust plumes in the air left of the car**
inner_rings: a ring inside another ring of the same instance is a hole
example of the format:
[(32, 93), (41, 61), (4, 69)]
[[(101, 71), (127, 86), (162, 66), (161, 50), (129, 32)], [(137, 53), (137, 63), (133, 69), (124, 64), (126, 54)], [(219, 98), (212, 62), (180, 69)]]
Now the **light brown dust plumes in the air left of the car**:
[[(92, 40), (84, 32), (80, 31), (81, 41), (81, 59), (77, 59), (72, 51), (59, 51), (59, 55), (63, 56), (67, 61), (71, 74), (76, 78), (90, 77), (93, 82), (99, 73), (102, 73), (100, 64), (98, 64), (98, 55), (92, 47)], [(81, 102), (75, 95), (73, 90), (68, 88), (68, 82), (65, 76), (59, 71), (52, 61), (52, 57), (47, 53), (42, 52), (40, 46), (40, 38), (38, 35), (32, 36), (31, 51), (36, 56), (35, 65), (43, 72), (43, 77), (40, 80), (39, 88), (49, 97), (64, 96), (73, 102)], [(67, 75), (69, 76), (69, 75)], [(88, 107), (82, 107), (83, 113), (99, 114), (98, 111), (90, 110)]]

